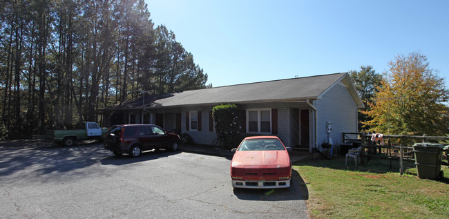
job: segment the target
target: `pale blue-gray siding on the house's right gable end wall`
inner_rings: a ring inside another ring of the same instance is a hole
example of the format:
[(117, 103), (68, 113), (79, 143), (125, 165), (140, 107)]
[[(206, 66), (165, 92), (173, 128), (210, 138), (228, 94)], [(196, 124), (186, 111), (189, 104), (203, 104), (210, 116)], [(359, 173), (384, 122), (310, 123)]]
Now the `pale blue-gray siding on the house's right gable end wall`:
[(341, 133), (357, 131), (357, 106), (345, 86), (336, 84), (321, 100), (316, 100), (318, 110), (318, 148), (327, 142), (326, 122), (332, 122), (332, 142), (340, 144)]

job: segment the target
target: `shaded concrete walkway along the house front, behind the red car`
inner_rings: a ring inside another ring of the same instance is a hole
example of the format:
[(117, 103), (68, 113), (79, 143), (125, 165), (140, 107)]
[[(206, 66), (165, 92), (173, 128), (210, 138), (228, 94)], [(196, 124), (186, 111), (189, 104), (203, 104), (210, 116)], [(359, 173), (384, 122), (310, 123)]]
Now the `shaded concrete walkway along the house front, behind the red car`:
[[(184, 151), (184, 152), (188, 152), (188, 153), (200, 153), (200, 154), (205, 154), (205, 155), (213, 155), (213, 156), (220, 156), (220, 157), (224, 157), (224, 158), (232, 158), (233, 154), (231, 151), (225, 151), (225, 150), (221, 150), (221, 151), (217, 151), (215, 149), (213, 149), (213, 146), (211, 145), (204, 145), (204, 144), (182, 144), (180, 145), (180, 150)], [(309, 154), (290, 154), (290, 160), (292, 160), (292, 162), (298, 162), (298, 161), (302, 161), (302, 160), (307, 160), (309, 158)]]

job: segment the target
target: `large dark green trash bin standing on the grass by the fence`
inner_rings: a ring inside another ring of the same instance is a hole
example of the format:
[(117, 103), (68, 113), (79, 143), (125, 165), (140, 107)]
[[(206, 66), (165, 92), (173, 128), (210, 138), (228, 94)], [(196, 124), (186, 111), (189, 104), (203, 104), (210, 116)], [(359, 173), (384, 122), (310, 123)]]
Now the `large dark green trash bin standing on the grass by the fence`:
[(414, 164), (417, 165), (420, 179), (437, 180), (443, 176), (441, 159), (443, 144), (416, 143), (413, 144)]

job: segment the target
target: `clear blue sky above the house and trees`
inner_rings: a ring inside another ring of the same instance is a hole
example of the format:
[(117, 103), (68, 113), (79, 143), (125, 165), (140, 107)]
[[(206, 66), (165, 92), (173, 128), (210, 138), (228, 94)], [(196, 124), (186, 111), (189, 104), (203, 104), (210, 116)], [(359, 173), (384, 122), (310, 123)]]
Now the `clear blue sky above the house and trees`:
[(421, 52), (449, 84), (449, 1), (145, 0), (208, 84), (388, 70)]

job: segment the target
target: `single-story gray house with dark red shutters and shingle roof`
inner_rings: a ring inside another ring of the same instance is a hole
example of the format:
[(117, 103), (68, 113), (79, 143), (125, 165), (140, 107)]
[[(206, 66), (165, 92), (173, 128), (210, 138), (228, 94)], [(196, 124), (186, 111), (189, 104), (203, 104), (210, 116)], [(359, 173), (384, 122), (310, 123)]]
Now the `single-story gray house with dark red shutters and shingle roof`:
[(188, 133), (195, 143), (211, 144), (216, 138), (212, 108), (219, 104), (243, 109), (246, 133), (277, 135), (286, 146), (305, 146), (310, 152), (329, 137), (340, 144), (342, 133), (356, 132), (357, 110), (364, 106), (350, 76), (336, 73), (142, 95), (104, 108), (103, 125), (157, 124)]

